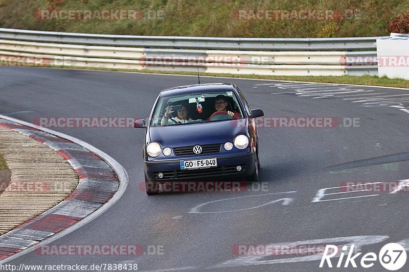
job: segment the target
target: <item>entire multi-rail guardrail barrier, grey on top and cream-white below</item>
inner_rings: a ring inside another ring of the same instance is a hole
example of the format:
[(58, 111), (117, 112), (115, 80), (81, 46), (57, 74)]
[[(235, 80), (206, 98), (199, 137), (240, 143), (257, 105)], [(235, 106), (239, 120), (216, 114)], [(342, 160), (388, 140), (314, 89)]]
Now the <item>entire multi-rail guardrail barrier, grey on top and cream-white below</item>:
[[(376, 63), (368, 65), (363, 61), (365, 57), (374, 59), (376, 51), (345, 51), (351, 48), (374, 50), (376, 44), (373, 37), (244, 39), (99, 35), (0, 29), (0, 39), (0, 57), (12, 60), (42, 58), (47, 60), (44, 66), (194, 72), (197, 70), (197, 62), (200, 72), (204, 73), (276, 76), (377, 75)], [(274, 43), (272, 43), (273, 40), (275, 40)], [(118, 41), (121, 42), (118, 43)], [(246, 41), (247, 45), (243, 46), (242, 41)], [(187, 45), (189, 42), (191, 46)], [(221, 44), (224, 45), (219, 46)], [(270, 46), (272, 44), (279, 46), (277, 47), (279, 51), (271, 51), (275, 50)], [(124, 47), (124, 45), (132, 47)], [(137, 47), (147, 45), (158, 48)], [(326, 51), (308, 51), (311, 48), (323, 50), (324, 45), (328, 46)], [(195, 49), (179, 49), (185, 47)], [(236, 50), (200, 49), (206, 47)], [(242, 50), (243, 48), (246, 50)], [(284, 48), (295, 51), (280, 51)], [(264, 51), (258, 51), (259, 49)], [(333, 51), (335, 49), (337, 51)], [(0, 60), (0, 64), (4, 65), (4, 62)]]

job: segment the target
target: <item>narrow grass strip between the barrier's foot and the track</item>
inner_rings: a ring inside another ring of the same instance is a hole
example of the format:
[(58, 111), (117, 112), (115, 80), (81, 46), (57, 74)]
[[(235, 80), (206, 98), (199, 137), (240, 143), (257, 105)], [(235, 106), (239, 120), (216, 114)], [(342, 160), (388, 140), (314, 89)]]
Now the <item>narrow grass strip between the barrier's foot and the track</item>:
[[(58, 67), (56, 67), (58, 68)], [(63, 68), (63, 67), (60, 67)], [(71, 68), (70, 68), (71, 69)], [(75, 67), (73, 67), (75, 69)], [(122, 70), (109, 68), (79, 68), (83, 70), (104, 70), (104, 71), (127, 71), (127, 72), (145, 72), (145, 73), (163, 73), (168, 75), (191, 75), (197, 76), (196, 72), (174, 72), (174, 71), (154, 71), (154, 70)], [(261, 80), (285, 80), (285, 81), (307, 81), (319, 83), (336, 83), (336, 84), (353, 84), (353, 85), (370, 85), (394, 88), (409, 89), (409, 80), (390, 79), (387, 77), (377, 76), (261, 76), (261, 75), (232, 75), (229, 73), (201, 73), (201, 77), (228, 77), (237, 79), (261, 79)]]

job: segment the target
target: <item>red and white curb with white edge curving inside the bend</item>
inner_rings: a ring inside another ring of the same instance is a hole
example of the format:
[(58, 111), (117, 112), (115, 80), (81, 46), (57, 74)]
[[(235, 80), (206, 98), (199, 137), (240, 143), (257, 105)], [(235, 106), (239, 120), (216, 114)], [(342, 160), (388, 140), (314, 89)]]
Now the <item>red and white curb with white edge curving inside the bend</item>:
[(92, 221), (119, 200), (128, 174), (116, 160), (79, 139), (0, 115), (0, 126), (48, 145), (79, 176), (73, 193), (50, 210), (0, 236), (0, 264), (48, 244)]

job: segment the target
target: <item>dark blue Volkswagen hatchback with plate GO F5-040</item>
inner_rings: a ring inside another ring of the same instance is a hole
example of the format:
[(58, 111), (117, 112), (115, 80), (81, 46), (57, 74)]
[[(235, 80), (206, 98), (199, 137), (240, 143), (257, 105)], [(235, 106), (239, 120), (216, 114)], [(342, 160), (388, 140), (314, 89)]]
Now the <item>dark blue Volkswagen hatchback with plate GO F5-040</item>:
[(258, 180), (256, 117), (233, 83), (180, 86), (163, 90), (148, 123), (143, 158), (147, 194), (153, 183), (238, 178)]

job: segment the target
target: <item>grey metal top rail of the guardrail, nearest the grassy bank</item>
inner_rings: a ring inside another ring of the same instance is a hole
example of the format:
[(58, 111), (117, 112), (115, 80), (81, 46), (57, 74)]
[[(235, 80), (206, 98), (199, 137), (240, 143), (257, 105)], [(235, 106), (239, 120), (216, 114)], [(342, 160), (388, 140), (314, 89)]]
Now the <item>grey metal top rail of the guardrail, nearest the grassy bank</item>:
[(376, 51), (376, 39), (131, 36), (0, 28), (0, 39), (65, 44), (263, 51)]

